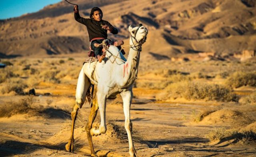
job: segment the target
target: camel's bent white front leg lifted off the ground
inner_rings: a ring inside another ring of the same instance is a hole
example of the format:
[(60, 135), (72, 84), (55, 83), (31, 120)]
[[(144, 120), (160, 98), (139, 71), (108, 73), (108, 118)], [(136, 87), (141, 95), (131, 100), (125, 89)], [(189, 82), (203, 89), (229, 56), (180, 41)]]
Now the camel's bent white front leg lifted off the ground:
[[(106, 127), (106, 92), (104, 90), (101, 90), (102, 88), (99, 88), (96, 94), (96, 99), (98, 101), (98, 106), (100, 110), (100, 126), (97, 129), (96, 127), (93, 127), (90, 130), (90, 133), (92, 136), (98, 136), (102, 133), (106, 133), (107, 127)], [(100, 91), (100, 92), (99, 92)]]

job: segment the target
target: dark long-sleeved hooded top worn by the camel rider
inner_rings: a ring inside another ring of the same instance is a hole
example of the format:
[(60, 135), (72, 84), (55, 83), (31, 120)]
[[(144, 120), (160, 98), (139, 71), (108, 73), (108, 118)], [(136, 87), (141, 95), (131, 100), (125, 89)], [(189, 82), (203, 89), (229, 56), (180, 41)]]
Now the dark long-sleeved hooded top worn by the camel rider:
[(108, 21), (105, 21), (105, 20), (96, 21), (93, 18), (92, 19), (82, 18), (79, 15), (79, 12), (74, 13), (74, 16), (77, 22), (84, 24), (86, 26), (90, 41), (93, 38), (108, 38), (108, 34), (107, 34), (108, 31), (102, 28), (103, 25), (108, 25), (109, 28), (112, 28), (112, 31), (111, 31), (112, 34), (118, 33), (118, 30), (114, 28)]

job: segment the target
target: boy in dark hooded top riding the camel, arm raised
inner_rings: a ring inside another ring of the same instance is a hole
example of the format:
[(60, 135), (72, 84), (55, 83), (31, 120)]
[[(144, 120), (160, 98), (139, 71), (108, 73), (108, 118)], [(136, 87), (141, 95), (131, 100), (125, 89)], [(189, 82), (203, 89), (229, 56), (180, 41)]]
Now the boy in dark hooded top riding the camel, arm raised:
[(78, 5), (75, 5), (74, 16), (77, 22), (86, 26), (89, 34), (90, 46), (95, 53), (95, 57), (101, 62), (105, 57), (105, 54), (102, 54), (102, 47), (96, 47), (94, 44), (101, 44), (102, 41), (108, 37), (107, 31), (110, 31), (112, 34), (117, 34), (118, 30), (108, 21), (102, 20), (103, 13), (98, 7), (92, 8), (90, 18), (82, 18), (79, 15)]

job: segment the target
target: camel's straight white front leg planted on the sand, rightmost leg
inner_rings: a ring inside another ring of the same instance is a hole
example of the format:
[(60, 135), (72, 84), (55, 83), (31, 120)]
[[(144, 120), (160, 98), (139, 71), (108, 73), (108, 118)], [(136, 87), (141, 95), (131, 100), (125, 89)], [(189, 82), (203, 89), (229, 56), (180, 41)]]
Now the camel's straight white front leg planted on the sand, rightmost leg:
[(122, 96), (123, 102), (124, 102), (124, 116), (125, 116), (125, 123), (124, 127), (126, 129), (127, 135), (128, 135), (128, 141), (129, 141), (129, 153), (130, 157), (137, 157), (136, 150), (134, 148), (133, 142), (132, 142), (132, 122), (130, 120), (130, 106), (132, 103), (132, 89), (129, 91), (124, 91), (120, 93)]

